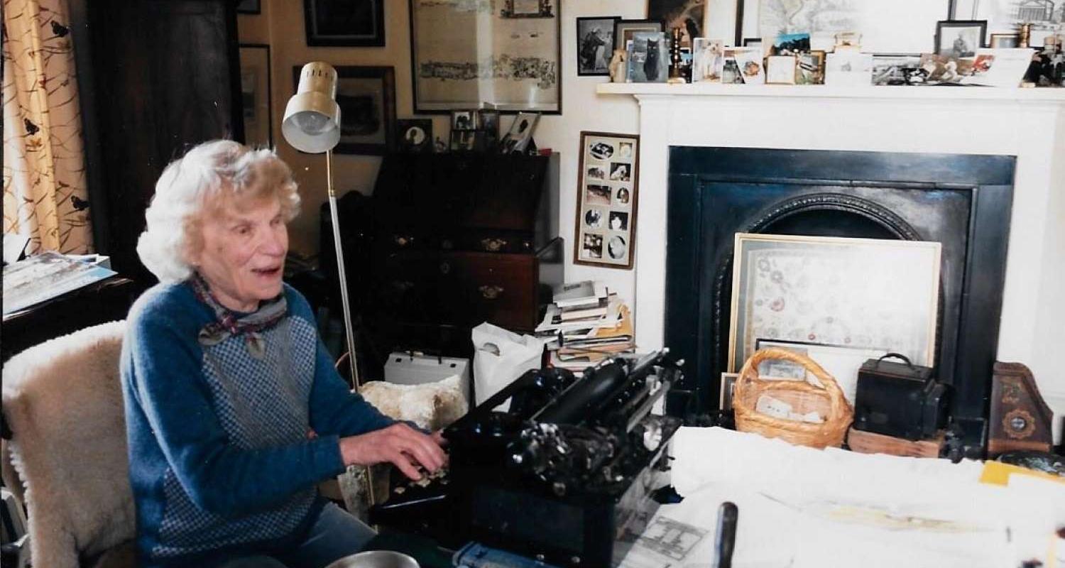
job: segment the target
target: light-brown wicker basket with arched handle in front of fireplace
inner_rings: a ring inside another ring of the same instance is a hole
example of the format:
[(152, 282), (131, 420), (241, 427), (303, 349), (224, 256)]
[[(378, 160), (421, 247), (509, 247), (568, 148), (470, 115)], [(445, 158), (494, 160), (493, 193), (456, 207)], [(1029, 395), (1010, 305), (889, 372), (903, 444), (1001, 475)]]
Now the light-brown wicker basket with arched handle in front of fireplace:
[[(820, 382), (817, 386), (803, 380), (767, 380), (758, 377), (758, 364), (767, 359), (781, 359), (801, 364), (807, 376), (813, 374)], [(821, 366), (805, 355), (791, 351), (770, 347), (758, 350), (743, 363), (736, 379), (733, 394), (733, 409), (736, 413), (736, 429), (754, 432), (767, 438), (810, 448), (838, 447), (842, 444), (847, 428), (854, 419), (854, 408), (847, 402), (839, 385)], [(764, 415), (755, 410), (763, 394), (791, 405), (798, 413), (816, 410), (823, 422), (801, 422)]]

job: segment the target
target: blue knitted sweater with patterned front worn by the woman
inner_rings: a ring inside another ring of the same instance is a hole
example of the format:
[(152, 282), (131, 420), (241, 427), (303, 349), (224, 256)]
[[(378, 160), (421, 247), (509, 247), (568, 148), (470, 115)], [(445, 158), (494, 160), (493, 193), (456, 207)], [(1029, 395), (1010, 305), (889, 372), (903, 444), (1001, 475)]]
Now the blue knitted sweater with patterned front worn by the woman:
[(142, 566), (295, 543), (323, 504), (314, 485), (344, 470), (339, 438), (393, 422), (349, 392), (307, 301), (283, 293), (261, 357), (241, 334), (200, 344), (216, 318), (187, 282), (157, 285), (130, 310), (121, 378)]

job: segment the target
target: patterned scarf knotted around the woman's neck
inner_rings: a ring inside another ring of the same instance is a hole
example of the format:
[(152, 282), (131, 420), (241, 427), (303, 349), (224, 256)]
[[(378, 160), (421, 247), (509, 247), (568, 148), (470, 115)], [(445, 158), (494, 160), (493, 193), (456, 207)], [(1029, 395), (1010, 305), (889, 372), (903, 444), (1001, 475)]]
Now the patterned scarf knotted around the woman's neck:
[(211, 322), (200, 329), (197, 338), (200, 345), (217, 345), (226, 341), (230, 336), (243, 335), (248, 346), (248, 353), (256, 358), (261, 358), (266, 352), (266, 344), (261, 331), (269, 329), (277, 322), (284, 318), (289, 310), (289, 304), (284, 299), (284, 293), (280, 293), (274, 299), (259, 305), (259, 309), (251, 313), (241, 315), (240, 313), (223, 306), (208, 288), (203, 277), (196, 273), (190, 280), (193, 293), (196, 297), (211, 307), (216, 321)]

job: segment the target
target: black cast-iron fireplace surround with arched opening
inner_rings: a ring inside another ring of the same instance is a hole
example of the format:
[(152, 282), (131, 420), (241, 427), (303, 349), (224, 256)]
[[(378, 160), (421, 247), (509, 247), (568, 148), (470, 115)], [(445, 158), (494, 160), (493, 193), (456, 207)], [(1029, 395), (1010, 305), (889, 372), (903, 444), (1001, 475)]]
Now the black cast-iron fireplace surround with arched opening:
[[(1015, 158), (670, 148), (665, 344), (684, 388), (717, 407), (736, 232), (943, 243), (936, 367), (966, 455), (983, 454)], [(670, 408), (679, 412), (681, 408)]]

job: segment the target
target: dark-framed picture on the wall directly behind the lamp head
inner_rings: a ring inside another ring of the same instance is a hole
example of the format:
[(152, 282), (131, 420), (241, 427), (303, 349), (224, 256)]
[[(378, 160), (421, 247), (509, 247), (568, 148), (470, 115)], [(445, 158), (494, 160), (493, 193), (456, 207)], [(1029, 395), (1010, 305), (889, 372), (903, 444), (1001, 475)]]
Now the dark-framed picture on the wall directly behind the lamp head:
[[(292, 67), (293, 92), (302, 65)], [(334, 153), (382, 155), (395, 147), (395, 70), (334, 65), (340, 143)]]

